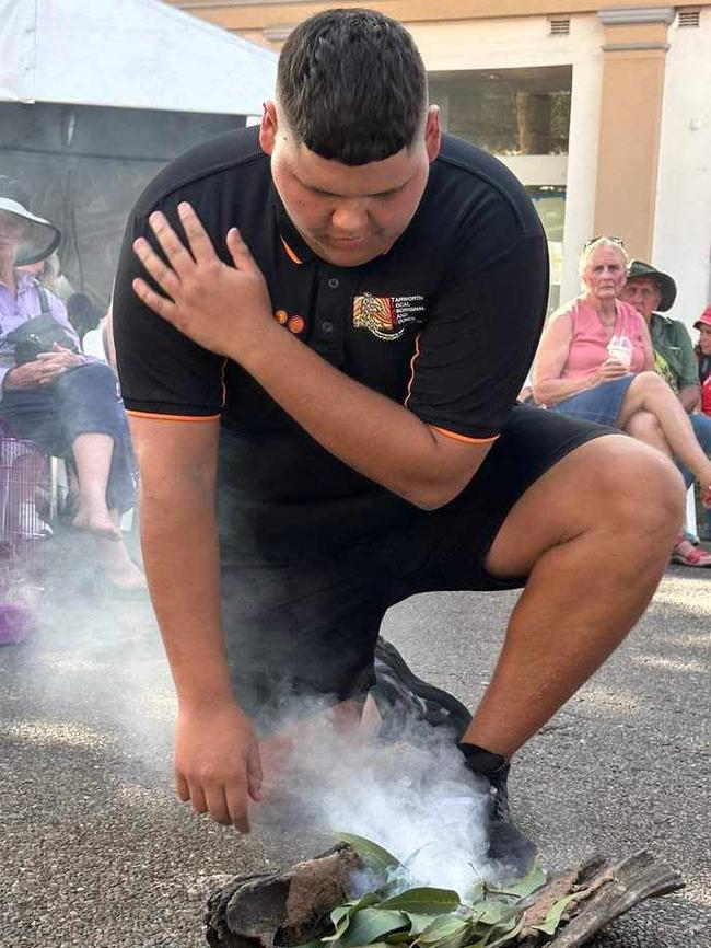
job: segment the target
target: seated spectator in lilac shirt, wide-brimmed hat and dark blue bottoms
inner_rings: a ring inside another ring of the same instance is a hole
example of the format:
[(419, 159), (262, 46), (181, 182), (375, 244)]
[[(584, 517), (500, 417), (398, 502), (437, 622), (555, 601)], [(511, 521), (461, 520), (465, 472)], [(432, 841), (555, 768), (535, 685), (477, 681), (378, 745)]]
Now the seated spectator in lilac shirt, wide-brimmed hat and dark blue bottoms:
[(144, 587), (118, 530), (133, 506), (132, 454), (117, 381), (88, 359), (62, 302), (21, 264), (42, 261), (59, 231), (28, 210), (25, 189), (0, 177), (0, 419), (15, 438), (71, 459), (80, 485), (75, 527), (96, 535), (117, 590)]

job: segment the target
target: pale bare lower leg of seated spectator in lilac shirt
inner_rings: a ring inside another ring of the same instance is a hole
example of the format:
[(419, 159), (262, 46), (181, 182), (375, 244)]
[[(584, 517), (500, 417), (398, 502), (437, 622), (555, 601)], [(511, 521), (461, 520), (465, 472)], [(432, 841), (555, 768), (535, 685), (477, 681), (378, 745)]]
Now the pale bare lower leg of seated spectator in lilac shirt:
[(74, 527), (120, 540), (106, 505), (114, 439), (109, 435), (79, 435), (71, 447), (79, 476), (79, 509)]

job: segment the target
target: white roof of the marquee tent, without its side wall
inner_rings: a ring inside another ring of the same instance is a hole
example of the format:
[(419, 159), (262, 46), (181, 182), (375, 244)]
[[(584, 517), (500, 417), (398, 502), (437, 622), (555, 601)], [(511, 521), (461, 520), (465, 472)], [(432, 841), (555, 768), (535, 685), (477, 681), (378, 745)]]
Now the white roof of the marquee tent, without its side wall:
[(259, 115), (276, 67), (160, 0), (0, 0), (0, 101)]

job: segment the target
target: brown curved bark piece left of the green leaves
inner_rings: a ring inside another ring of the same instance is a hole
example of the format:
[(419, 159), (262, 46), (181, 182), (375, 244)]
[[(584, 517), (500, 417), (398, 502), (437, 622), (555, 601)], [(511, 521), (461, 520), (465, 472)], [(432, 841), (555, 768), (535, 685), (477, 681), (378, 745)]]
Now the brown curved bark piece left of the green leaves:
[(284, 872), (237, 876), (208, 900), (206, 937), (213, 948), (300, 945), (326, 934), (331, 909), (350, 898), (363, 870), (347, 845)]

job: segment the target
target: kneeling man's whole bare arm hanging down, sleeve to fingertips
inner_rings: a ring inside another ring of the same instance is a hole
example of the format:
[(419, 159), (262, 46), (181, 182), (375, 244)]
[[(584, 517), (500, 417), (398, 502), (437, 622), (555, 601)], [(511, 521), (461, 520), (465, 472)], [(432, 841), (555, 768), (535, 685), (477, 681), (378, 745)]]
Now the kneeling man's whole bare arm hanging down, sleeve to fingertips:
[(220, 616), (214, 515), (219, 423), (130, 417), (141, 544), (178, 698), (175, 776), (196, 812), (248, 830), (259, 755), (232, 693)]

